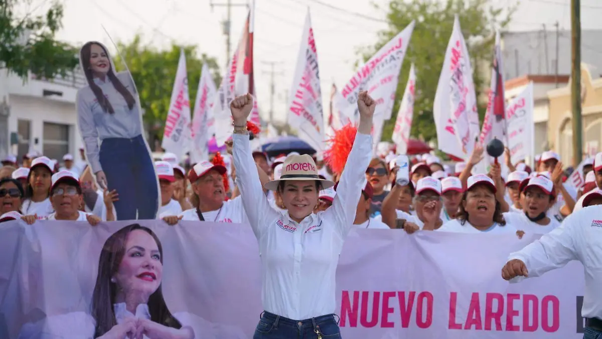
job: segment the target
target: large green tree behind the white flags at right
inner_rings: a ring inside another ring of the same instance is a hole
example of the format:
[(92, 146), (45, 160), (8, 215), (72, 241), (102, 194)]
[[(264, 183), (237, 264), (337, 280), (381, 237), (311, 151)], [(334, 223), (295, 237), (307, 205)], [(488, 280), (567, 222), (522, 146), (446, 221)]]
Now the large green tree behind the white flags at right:
[(492, 63), (495, 29), (501, 31), (506, 28), (514, 11), (513, 8), (503, 8), (501, 2), (499, 5), (491, 5), (492, 3), (495, 4), (488, 0), (391, 0), (387, 8), (381, 8), (387, 12), (389, 27), (379, 32), (379, 41), (376, 45), (361, 50), (365, 60), (393, 39), (412, 20), (416, 21), (402, 71), (399, 74), (393, 116), (385, 122), (383, 140), (391, 140), (397, 111), (408, 82), (409, 68), (413, 62), (417, 84), (411, 135), (421, 136), (426, 141), (433, 139), (436, 141), (433, 102), (439, 74), (443, 67), (445, 49), (452, 35), (455, 14), (459, 16), (471, 57), (476, 95), (479, 100), (479, 116), (480, 121), (483, 121), (487, 103), (481, 99), (489, 84), (485, 83), (480, 70), (483, 66)]

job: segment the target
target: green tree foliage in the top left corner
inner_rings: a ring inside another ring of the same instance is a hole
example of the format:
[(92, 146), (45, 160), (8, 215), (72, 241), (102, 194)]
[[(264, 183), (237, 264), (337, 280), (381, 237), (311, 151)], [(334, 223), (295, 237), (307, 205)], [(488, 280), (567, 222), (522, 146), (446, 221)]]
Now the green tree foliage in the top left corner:
[(78, 65), (77, 49), (57, 41), (63, 5), (54, 2), (44, 16), (18, 17), (15, 8), (30, 0), (0, 0), (0, 64), (25, 80), (28, 72), (39, 77), (65, 75)]

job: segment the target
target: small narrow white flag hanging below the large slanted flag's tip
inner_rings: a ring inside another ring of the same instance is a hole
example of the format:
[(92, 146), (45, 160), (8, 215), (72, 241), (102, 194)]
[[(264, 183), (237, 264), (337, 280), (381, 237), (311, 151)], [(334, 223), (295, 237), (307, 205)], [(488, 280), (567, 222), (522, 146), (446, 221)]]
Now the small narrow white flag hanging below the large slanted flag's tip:
[(408, 84), (403, 92), (402, 104), (397, 112), (397, 120), (393, 130), (393, 142), (396, 144), (397, 154), (408, 153), (408, 140), (410, 138), (410, 130), (412, 129), (412, 119), (414, 118), (414, 100), (416, 93), (416, 71), (414, 64), (410, 67)]

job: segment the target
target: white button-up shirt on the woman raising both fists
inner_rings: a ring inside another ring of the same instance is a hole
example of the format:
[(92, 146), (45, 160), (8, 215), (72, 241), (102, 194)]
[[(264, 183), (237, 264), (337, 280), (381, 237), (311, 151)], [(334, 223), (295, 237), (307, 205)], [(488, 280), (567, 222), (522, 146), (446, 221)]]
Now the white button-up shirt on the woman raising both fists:
[(249, 224), (259, 243), (265, 311), (294, 320), (332, 314), (335, 272), (372, 157), (372, 137), (357, 133), (332, 206), (300, 224), (276, 211), (262, 191), (248, 135), (234, 134), (234, 166)]

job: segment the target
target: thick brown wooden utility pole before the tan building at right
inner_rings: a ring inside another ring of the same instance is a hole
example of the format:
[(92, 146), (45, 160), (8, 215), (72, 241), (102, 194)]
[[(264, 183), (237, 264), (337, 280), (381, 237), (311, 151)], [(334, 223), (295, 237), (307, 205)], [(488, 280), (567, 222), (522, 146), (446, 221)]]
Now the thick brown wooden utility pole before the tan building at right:
[(581, 119), (581, 13), (580, 0), (571, 0), (571, 42), (573, 67), (571, 68), (571, 100), (573, 101), (573, 168), (583, 157)]

